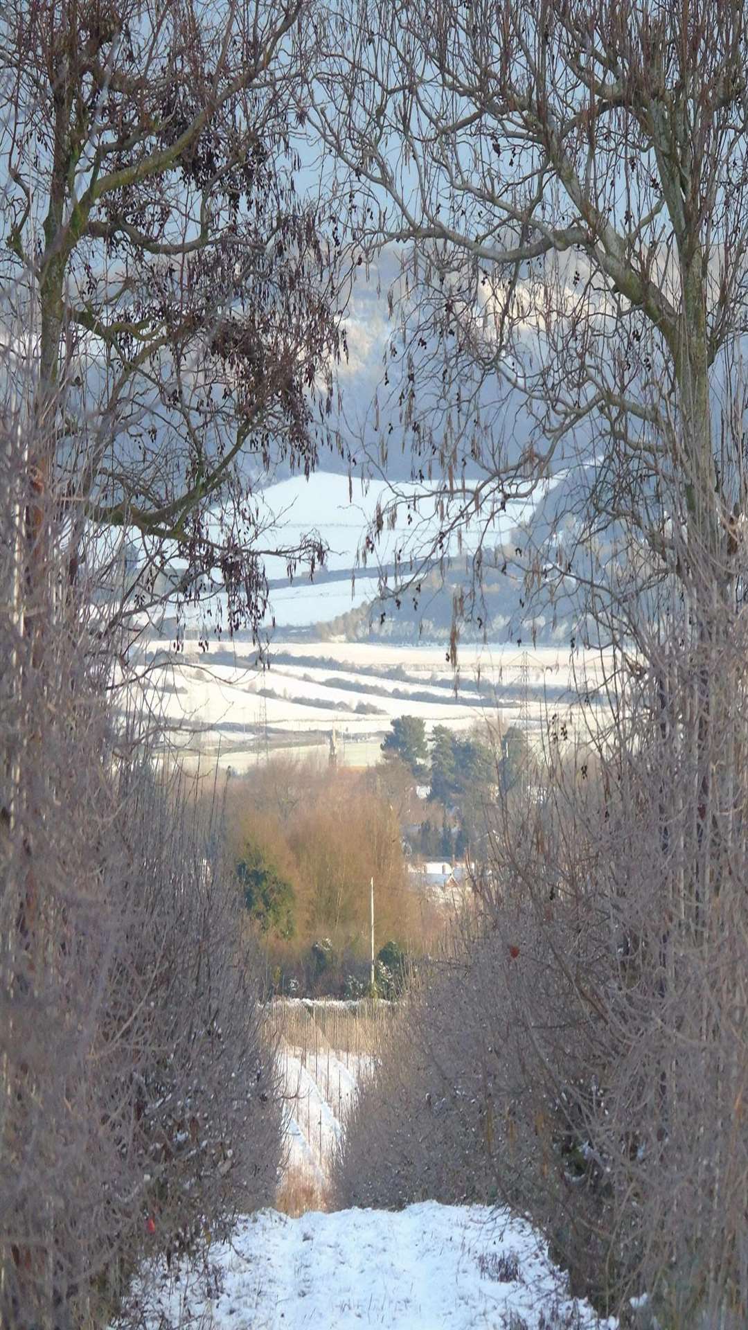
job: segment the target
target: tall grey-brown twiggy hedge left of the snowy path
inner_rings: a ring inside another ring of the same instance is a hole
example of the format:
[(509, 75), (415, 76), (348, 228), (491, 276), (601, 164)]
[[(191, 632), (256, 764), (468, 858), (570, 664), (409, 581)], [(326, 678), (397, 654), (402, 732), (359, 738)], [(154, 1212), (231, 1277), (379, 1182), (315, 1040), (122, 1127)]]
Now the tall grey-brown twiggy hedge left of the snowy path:
[(197, 815), (154, 767), (149, 718), (112, 705), (129, 636), (101, 633), (96, 565), (71, 583), (64, 492), (29, 466), (49, 455), (37, 384), (16, 370), (0, 375), (0, 1321), (71, 1330), (105, 1323), (149, 1253), (193, 1252), (270, 1200), (282, 1108), (220, 791)]

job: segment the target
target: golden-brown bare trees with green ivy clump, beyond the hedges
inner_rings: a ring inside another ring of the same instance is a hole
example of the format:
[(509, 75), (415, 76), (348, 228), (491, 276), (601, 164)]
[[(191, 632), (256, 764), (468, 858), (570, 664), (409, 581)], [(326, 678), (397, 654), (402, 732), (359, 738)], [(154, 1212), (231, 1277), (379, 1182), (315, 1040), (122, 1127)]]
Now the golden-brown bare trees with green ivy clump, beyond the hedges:
[(403, 799), (401, 773), (283, 757), (232, 777), (228, 847), (245, 928), (266, 948), (273, 991), (357, 996), (367, 986), (371, 878), (375, 951), (425, 950), (438, 924), (409, 887)]

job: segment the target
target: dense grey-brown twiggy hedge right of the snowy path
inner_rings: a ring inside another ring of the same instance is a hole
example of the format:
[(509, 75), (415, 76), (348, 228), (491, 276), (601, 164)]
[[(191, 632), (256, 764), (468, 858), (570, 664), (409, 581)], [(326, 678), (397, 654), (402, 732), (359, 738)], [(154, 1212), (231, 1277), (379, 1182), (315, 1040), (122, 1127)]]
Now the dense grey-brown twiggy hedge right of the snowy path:
[(342, 1205), (512, 1205), (575, 1294), (679, 1330), (748, 1306), (744, 633), (668, 648), (616, 746), (496, 806), (479, 912), (401, 1004), (334, 1173)]

